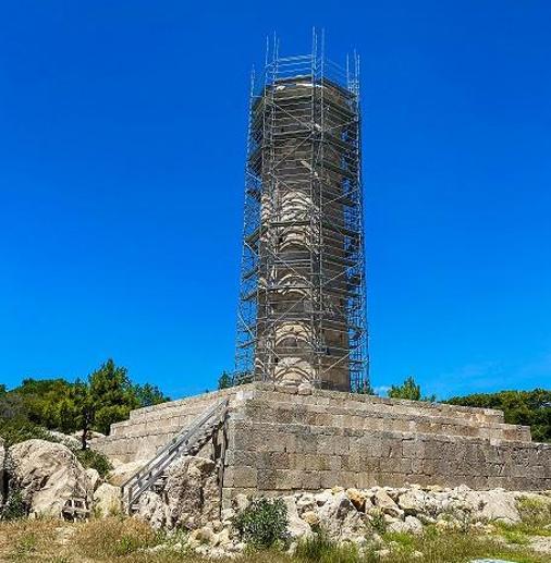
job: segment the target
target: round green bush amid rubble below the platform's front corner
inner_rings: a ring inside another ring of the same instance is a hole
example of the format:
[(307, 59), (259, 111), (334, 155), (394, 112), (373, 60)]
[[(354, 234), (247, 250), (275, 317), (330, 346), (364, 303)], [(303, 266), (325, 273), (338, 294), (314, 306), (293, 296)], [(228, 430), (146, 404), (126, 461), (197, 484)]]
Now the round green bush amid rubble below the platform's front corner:
[(242, 539), (255, 549), (287, 540), (287, 509), (281, 499), (255, 499), (234, 517), (233, 524)]

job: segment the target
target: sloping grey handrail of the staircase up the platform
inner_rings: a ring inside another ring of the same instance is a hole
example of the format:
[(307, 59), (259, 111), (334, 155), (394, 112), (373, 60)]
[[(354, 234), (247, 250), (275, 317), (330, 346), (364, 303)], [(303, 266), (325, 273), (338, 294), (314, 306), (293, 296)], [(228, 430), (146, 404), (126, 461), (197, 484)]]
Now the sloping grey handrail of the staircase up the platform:
[[(229, 400), (223, 399), (212, 405), (206, 413), (198, 416), (189, 427), (184, 428), (179, 435), (172, 438), (152, 460), (147, 462), (134, 475), (132, 475), (122, 486), (121, 495), (124, 501), (126, 497), (127, 509), (144, 491), (151, 487), (159, 478), (160, 474), (172, 463), (174, 457), (181, 452), (183, 446), (193, 445), (192, 438), (216, 415), (225, 412)], [(143, 482), (144, 481), (144, 482)], [(135, 490), (137, 487), (137, 490)]]

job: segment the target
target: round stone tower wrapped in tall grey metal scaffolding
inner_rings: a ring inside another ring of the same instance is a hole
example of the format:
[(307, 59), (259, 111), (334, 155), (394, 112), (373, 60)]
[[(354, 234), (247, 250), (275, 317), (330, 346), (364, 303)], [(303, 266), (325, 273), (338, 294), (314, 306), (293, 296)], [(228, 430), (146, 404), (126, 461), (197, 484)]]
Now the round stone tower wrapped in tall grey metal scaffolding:
[(253, 73), (236, 382), (368, 388), (359, 58), (323, 51)]

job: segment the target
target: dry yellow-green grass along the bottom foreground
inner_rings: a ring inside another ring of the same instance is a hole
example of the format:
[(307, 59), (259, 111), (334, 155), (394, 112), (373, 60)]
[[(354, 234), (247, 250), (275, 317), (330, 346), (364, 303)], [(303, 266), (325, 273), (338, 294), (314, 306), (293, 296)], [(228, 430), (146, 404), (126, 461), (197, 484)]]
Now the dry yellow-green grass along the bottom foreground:
[[(464, 563), (474, 558), (498, 558), (518, 563), (549, 563), (548, 555), (529, 546), (507, 542), (503, 536), (438, 533), (429, 528), (420, 537), (387, 535), (391, 555), (381, 560), (374, 550), (359, 558), (354, 549), (331, 542), (301, 548), (299, 558), (278, 552), (256, 552), (243, 563)], [(511, 539), (515, 539), (514, 535)], [(112, 517), (70, 524), (54, 521), (0, 523), (1, 562), (49, 563), (205, 563), (199, 556), (167, 547), (167, 537), (136, 519)], [(156, 546), (158, 546), (156, 548)], [(151, 550), (152, 548), (152, 550)], [(415, 554), (420, 552), (423, 555)]]

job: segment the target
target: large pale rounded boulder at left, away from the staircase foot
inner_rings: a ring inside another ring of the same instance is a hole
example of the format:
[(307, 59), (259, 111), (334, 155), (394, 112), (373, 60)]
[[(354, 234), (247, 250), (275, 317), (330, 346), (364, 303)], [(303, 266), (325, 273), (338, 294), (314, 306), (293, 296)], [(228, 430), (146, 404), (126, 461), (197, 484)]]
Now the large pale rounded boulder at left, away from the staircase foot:
[(19, 490), (33, 516), (59, 517), (70, 499), (89, 506), (91, 487), (86, 470), (61, 443), (26, 440), (8, 452), (10, 490)]

